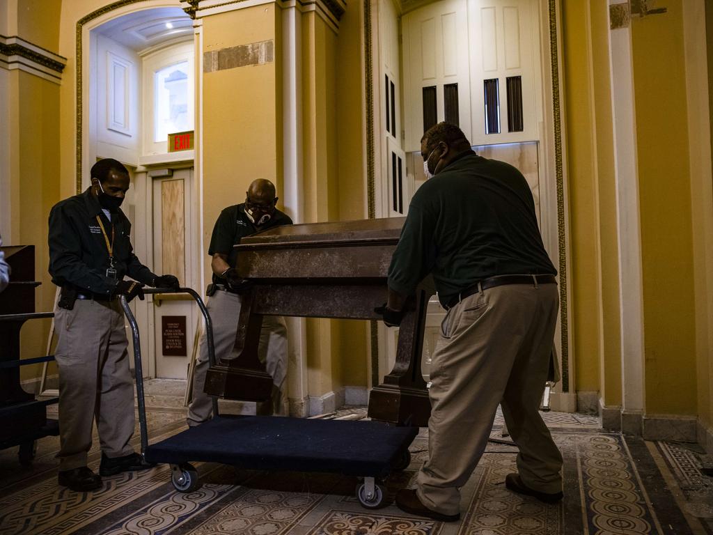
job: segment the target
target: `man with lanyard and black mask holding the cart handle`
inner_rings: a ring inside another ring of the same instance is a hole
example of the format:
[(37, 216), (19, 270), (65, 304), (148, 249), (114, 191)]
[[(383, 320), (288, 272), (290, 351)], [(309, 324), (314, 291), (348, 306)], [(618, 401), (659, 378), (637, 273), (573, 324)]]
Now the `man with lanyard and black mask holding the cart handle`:
[[(133, 382), (117, 297), (143, 299), (141, 288), (178, 287), (133, 253), (131, 224), (119, 209), (129, 188), (116, 160), (91, 168), (91, 186), (54, 205), (49, 215), (49, 272), (61, 287), (55, 309), (59, 369), (59, 484), (74, 491), (101, 487), (101, 476), (150, 467), (133, 451)], [(124, 280), (128, 275), (133, 280)], [(92, 423), (101, 443), (97, 475), (87, 467)]]

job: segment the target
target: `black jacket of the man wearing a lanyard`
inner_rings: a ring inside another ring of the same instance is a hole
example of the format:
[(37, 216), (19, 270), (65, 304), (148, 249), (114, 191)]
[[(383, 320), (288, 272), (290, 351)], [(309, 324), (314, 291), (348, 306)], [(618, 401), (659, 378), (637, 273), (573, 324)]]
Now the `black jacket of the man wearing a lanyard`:
[[(111, 221), (108, 220), (90, 189), (61, 200), (49, 214), (49, 273), (52, 282), (103, 295), (111, 294), (117, 280), (122, 280), (124, 275), (151, 285), (156, 275), (133, 253), (128, 218), (117, 210), (111, 214)], [(106, 275), (109, 251), (97, 216), (110, 242), (113, 227), (116, 280)]]

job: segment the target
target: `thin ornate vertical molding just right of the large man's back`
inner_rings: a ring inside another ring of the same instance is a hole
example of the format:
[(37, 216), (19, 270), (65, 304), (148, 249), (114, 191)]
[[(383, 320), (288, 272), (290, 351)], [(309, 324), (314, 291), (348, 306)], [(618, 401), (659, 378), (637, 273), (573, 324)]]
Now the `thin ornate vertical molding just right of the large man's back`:
[(560, 273), (560, 324), (562, 391), (570, 391), (570, 355), (567, 307), (567, 235), (565, 233), (565, 185), (562, 158), (562, 114), (560, 108), (560, 68), (557, 41), (557, 0), (548, 0), (550, 14), (550, 68), (552, 69), (552, 113), (555, 129), (555, 180), (557, 183), (557, 233)]

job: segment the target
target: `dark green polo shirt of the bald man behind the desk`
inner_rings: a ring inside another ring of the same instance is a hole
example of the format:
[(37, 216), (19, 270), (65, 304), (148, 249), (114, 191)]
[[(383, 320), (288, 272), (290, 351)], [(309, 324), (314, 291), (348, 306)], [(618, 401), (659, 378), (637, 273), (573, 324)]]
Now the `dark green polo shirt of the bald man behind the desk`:
[[(222, 210), (215, 221), (213, 233), (210, 237), (210, 245), (208, 245), (208, 254), (210, 256), (216, 253), (227, 255), (228, 265), (235, 267), (237, 264), (237, 249), (233, 245), (240, 243), (240, 239), (245, 238), (245, 236), (279, 225), (292, 225), (292, 219), (286, 213), (275, 210), (275, 214), (272, 215), (270, 221), (258, 229), (245, 215), (245, 203), (228, 206)], [(213, 282), (223, 284), (225, 280), (214, 273)]]

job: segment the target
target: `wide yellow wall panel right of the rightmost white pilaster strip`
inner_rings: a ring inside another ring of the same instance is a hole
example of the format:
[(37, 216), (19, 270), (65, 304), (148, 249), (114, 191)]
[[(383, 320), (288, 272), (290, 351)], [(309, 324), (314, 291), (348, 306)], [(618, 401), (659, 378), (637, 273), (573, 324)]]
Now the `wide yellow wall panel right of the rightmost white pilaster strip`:
[[(632, 19), (647, 414), (696, 414), (682, 2)], [(677, 97), (678, 96), (678, 97)], [(669, 283), (670, 281), (672, 283)]]

